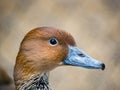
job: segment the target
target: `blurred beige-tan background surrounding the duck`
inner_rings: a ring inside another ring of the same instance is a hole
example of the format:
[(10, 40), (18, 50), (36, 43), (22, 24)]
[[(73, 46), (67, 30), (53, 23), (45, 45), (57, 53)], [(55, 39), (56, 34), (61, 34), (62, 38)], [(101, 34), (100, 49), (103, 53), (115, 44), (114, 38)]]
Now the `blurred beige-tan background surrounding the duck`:
[(21, 40), (41, 26), (70, 32), (79, 48), (106, 64), (105, 71), (56, 68), (53, 90), (120, 90), (120, 0), (0, 0), (0, 67), (10, 78)]

